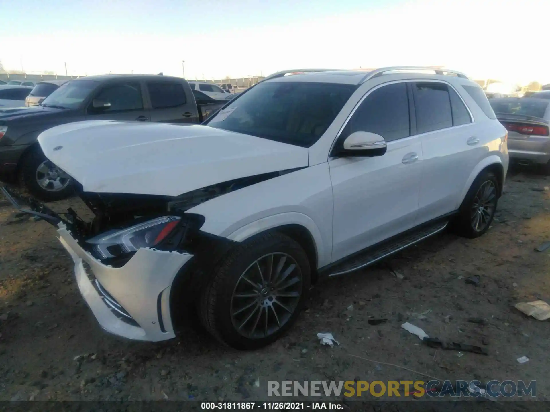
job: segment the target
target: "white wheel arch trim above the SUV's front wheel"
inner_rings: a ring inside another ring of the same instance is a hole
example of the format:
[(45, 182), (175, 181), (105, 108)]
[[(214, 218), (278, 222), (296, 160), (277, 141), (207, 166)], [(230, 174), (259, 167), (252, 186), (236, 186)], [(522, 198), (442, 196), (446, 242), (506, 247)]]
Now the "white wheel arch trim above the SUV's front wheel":
[(327, 253), (327, 248), (323, 242), (321, 231), (315, 222), (303, 213), (286, 212), (267, 216), (254, 222), (250, 222), (240, 229), (235, 230), (227, 236), (227, 238), (235, 242), (243, 242), (258, 233), (284, 225), (300, 225), (305, 227), (305, 229), (310, 233), (313, 243), (315, 243), (317, 268), (321, 268), (321, 266), (331, 263), (330, 259), (327, 259), (330, 256), (330, 253)]

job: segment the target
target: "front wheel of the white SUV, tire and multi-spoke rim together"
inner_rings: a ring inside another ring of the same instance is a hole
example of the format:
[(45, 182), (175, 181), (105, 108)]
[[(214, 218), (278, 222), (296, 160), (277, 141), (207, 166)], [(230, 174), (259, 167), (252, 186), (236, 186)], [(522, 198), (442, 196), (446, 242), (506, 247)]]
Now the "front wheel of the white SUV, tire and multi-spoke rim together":
[(265, 233), (222, 259), (202, 292), (201, 320), (229, 346), (259, 348), (292, 325), (309, 286), (303, 248), (280, 233)]

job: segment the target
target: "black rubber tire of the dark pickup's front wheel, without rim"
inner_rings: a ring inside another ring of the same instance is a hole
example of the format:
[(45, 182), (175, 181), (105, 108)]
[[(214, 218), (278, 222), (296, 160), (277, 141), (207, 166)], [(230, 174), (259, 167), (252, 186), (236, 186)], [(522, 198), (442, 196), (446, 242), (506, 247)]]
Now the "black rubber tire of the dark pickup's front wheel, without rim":
[(48, 160), (42, 153), (40, 147), (32, 147), (29, 152), (24, 155), (21, 162), (19, 180), (32, 196), (40, 199), (43, 202), (61, 201), (70, 197), (74, 192), (73, 182), (69, 181), (68, 185), (62, 190), (48, 191), (42, 188), (37, 181), (36, 172), (38, 166)]

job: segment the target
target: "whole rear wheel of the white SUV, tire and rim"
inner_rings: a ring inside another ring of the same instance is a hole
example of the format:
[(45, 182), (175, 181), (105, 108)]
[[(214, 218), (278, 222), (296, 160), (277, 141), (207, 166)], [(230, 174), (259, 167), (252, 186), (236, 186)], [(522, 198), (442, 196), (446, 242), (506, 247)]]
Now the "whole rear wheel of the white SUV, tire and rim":
[(482, 172), (472, 183), (454, 222), (459, 235), (474, 238), (483, 235), (493, 221), (499, 196), (499, 182), (493, 172)]

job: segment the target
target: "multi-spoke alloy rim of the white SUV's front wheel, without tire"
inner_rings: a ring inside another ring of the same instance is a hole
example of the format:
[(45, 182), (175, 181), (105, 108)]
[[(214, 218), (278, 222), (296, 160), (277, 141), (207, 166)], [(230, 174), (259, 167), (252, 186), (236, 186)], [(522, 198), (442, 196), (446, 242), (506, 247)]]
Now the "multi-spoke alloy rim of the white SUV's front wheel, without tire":
[(292, 317), (302, 294), (300, 266), (286, 253), (255, 260), (239, 277), (231, 298), (231, 319), (240, 335), (259, 339)]

